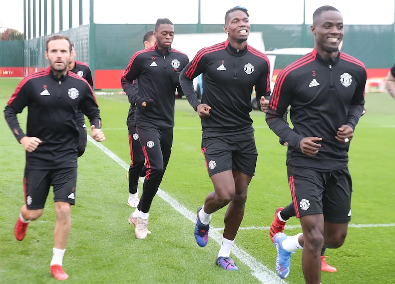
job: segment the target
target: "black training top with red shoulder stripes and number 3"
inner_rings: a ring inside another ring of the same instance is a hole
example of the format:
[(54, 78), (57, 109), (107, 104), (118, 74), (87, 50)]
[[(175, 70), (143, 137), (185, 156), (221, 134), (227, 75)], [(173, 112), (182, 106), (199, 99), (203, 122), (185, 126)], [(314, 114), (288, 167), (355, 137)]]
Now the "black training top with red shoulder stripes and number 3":
[[(327, 60), (316, 49), (278, 74), (266, 122), (288, 142), (288, 155), (295, 166), (321, 171), (347, 167), (350, 143), (339, 143), (335, 136), (343, 124), (355, 129), (365, 104), (366, 77), (364, 64), (356, 58), (339, 52)], [(293, 129), (283, 119), (288, 106)], [(311, 136), (322, 138), (314, 157), (304, 155), (299, 145)]]

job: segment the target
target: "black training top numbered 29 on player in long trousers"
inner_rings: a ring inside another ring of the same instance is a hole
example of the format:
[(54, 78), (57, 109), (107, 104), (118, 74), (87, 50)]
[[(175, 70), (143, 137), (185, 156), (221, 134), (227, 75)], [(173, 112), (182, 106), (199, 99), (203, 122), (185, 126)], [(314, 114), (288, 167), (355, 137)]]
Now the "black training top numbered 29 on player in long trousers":
[[(174, 104), (176, 85), (173, 83), (174, 69), (179, 72), (189, 62), (188, 56), (170, 48), (162, 55), (157, 46), (137, 51), (130, 59), (121, 83), (131, 103), (140, 97), (151, 98), (154, 106), (141, 111), (136, 108), (136, 123), (142, 126), (170, 128), (174, 126)], [(138, 79), (138, 93), (133, 90), (133, 80)]]

